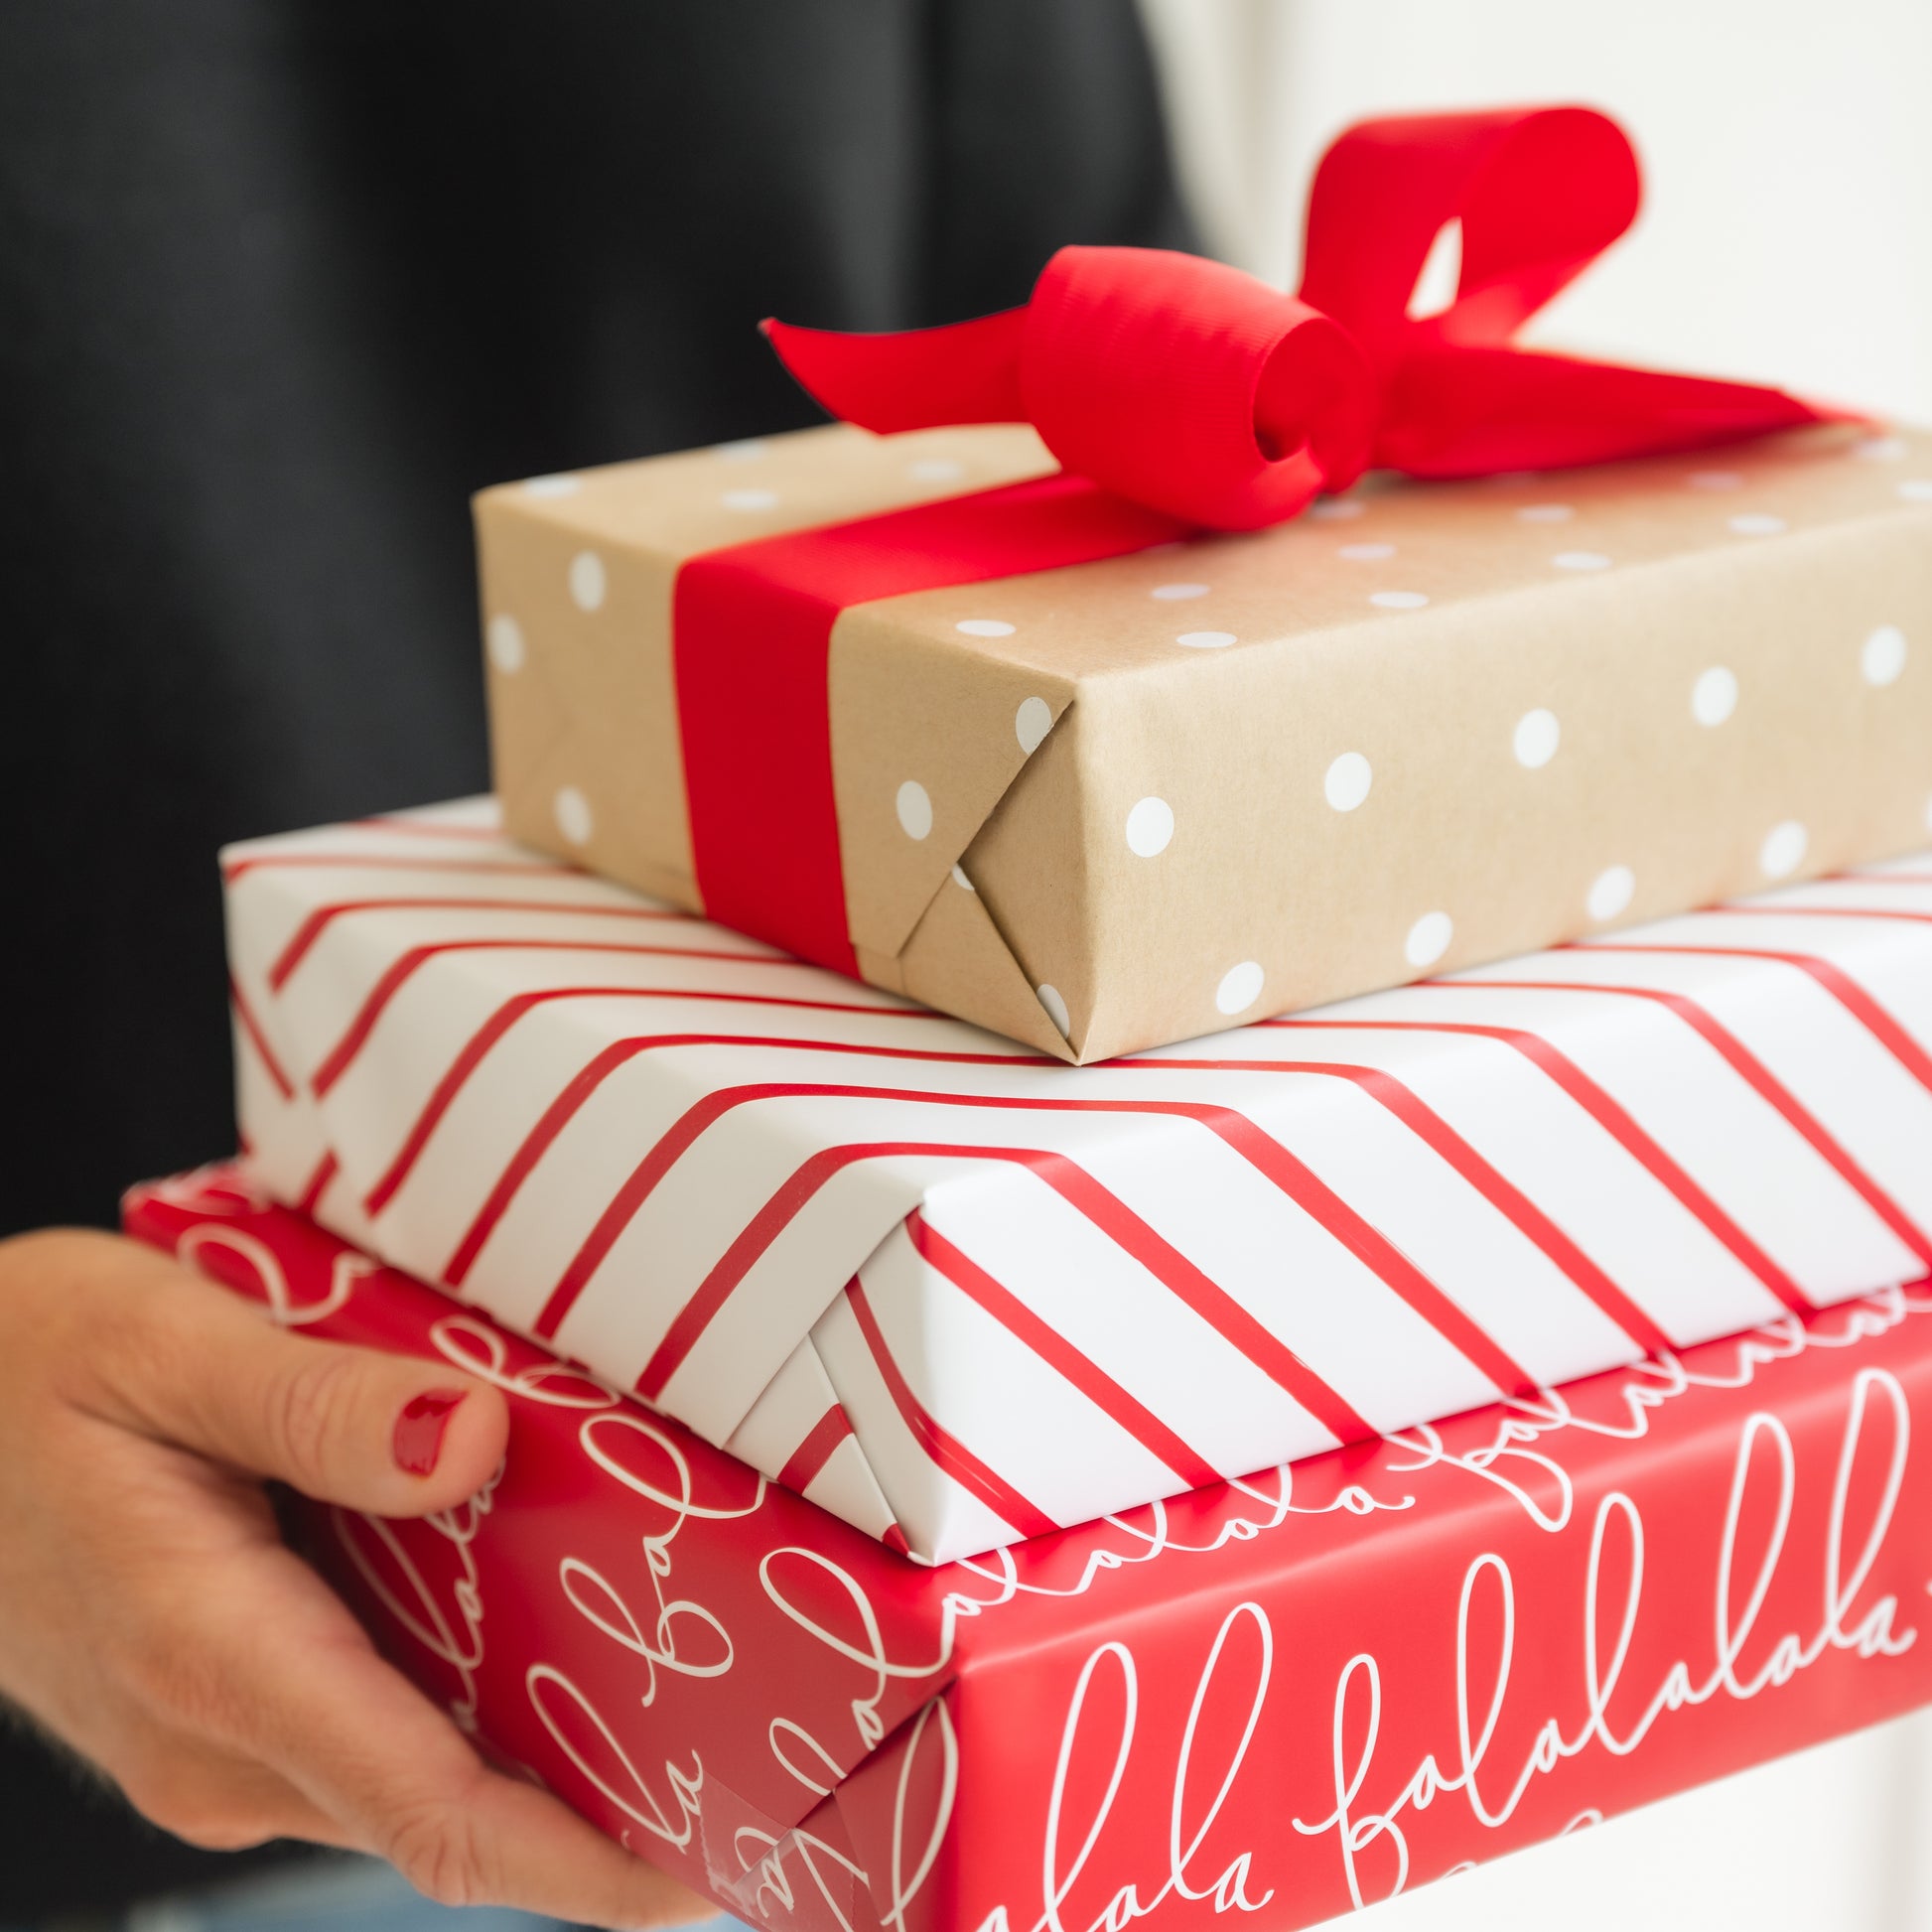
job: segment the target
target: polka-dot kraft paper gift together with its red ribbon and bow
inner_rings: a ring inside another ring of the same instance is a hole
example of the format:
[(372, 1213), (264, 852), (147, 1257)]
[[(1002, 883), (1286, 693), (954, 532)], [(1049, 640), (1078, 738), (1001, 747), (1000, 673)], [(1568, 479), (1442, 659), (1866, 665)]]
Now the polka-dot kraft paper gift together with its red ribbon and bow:
[(842, 427), (477, 498), (512, 833), (1080, 1063), (1907, 850), (1932, 440), (1520, 344), (1638, 201), (1594, 110), (1395, 116), (1296, 296), (767, 323)]

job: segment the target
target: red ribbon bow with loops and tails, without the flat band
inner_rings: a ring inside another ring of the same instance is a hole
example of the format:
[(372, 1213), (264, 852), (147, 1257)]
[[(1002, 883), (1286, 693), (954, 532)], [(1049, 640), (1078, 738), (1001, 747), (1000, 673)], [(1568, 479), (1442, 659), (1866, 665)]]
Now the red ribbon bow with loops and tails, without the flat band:
[[(1484, 475), (1824, 421), (1776, 388), (1515, 344), (1638, 195), (1629, 137), (1590, 108), (1374, 120), (1316, 172), (1298, 296), (1194, 255), (1063, 247), (1022, 309), (883, 336), (765, 328), (850, 423), (1028, 421), (1068, 473), (1213, 529), (1277, 524), (1370, 464)], [(1414, 319), (1449, 222), (1455, 301)]]

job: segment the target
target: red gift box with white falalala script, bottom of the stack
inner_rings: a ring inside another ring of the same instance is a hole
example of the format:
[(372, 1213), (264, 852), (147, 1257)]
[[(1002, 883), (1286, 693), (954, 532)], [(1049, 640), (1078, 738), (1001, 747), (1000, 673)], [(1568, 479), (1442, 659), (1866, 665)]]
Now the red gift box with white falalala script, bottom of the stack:
[(506, 1391), (475, 1503), (311, 1553), (753, 1924), (1306, 1926), (1932, 1696), (1922, 1289), (922, 1569), (236, 1173), (128, 1225)]

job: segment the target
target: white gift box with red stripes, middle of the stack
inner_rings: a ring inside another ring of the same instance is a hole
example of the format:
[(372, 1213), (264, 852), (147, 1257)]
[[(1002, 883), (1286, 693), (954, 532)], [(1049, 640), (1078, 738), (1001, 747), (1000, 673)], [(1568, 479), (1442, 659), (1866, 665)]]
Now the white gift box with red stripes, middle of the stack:
[(224, 866), (272, 1194), (933, 1561), (1932, 1267), (1932, 860), (1086, 1068), (487, 802)]

